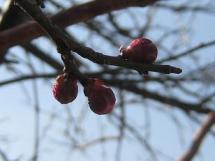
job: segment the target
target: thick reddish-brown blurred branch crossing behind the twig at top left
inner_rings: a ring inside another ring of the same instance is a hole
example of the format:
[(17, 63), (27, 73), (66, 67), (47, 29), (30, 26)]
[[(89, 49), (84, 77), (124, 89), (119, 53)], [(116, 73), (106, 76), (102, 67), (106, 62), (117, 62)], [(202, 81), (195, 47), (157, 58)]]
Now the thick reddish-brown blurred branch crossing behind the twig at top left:
[[(96, 16), (127, 7), (146, 6), (158, 0), (99, 0), (90, 1), (78, 6), (71, 7), (51, 17), (58, 26), (66, 26), (87, 21)], [(29, 42), (30, 40), (44, 35), (43, 29), (35, 22), (29, 21), (17, 27), (0, 33), (0, 52), (12, 46)]]

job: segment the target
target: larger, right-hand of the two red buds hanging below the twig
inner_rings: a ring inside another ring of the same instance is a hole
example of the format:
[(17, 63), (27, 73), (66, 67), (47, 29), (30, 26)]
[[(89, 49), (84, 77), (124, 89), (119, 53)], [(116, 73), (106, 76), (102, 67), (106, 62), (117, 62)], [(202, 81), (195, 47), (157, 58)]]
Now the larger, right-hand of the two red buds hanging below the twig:
[(113, 110), (116, 102), (115, 95), (111, 88), (105, 86), (100, 80), (90, 79), (84, 88), (84, 93), (88, 97), (90, 109), (96, 114), (107, 114)]

